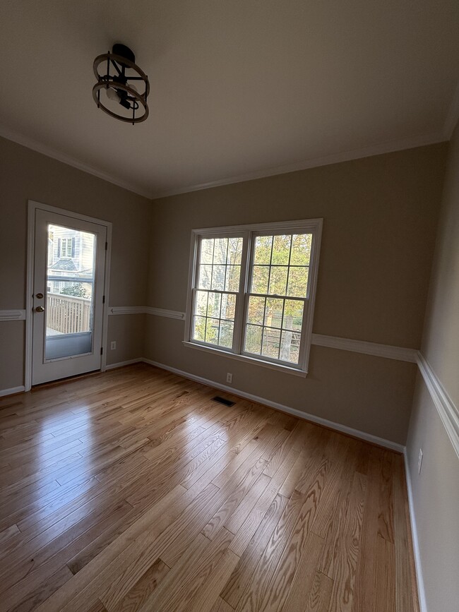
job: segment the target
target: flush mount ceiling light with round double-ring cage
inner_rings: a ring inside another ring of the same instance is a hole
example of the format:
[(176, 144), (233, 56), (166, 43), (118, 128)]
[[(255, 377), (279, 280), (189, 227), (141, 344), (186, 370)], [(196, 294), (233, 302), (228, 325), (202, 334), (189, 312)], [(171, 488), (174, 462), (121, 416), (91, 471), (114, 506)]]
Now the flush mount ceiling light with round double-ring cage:
[[(147, 97), (150, 93), (148, 76), (135, 62), (136, 56), (129, 47), (114, 44), (112, 53), (98, 55), (93, 66), (97, 78), (93, 98), (97, 108), (131, 124), (138, 124), (148, 117)], [(101, 74), (100, 68), (105, 68), (105, 73)], [(143, 92), (136, 87), (139, 81)], [(140, 116), (137, 115), (138, 109), (143, 110)]]

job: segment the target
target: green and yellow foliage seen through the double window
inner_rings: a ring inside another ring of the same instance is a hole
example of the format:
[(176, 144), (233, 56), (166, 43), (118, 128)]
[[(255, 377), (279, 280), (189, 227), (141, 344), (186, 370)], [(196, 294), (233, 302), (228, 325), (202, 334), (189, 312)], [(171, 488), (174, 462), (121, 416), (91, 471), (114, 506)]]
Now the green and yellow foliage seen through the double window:
[[(256, 236), (245, 350), (298, 363), (311, 234)], [(202, 239), (193, 338), (232, 346), (242, 238)], [(297, 298), (297, 299), (294, 299)], [(207, 324), (206, 324), (207, 323)], [(264, 329), (264, 332), (263, 332)]]

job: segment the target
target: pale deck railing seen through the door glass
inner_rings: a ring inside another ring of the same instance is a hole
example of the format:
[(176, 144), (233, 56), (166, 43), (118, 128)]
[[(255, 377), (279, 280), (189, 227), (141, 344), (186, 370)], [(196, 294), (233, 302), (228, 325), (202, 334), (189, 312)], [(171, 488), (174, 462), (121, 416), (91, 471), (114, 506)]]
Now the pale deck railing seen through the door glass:
[(90, 331), (91, 299), (47, 294), (47, 328), (61, 334), (76, 334)]

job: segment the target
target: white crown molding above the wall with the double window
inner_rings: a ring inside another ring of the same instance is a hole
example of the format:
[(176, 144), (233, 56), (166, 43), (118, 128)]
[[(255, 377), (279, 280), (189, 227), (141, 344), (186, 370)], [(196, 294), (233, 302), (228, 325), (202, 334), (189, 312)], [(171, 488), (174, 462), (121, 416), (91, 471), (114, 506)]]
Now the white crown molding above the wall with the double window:
[(211, 187), (220, 187), (233, 183), (253, 181), (255, 179), (265, 179), (268, 176), (276, 176), (277, 174), (288, 174), (289, 172), (297, 172), (299, 170), (307, 170), (309, 168), (330, 166), (331, 164), (339, 164), (340, 162), (350, 162), (351, 160), (359, 160), (363, 157), (372, 157), (373, 155), (383, 155), (384, 153), (402, 151), (405, 149), (414, 149), (416, 147), (423, 147), (426, 145), (434, 145), (436, 143), (442, 143), (444, 142), (444, 140), (448, 140), (448, 138), (444, 136), (443, 132), (434, 132), (430, 134), (424, 134), (422, 136), (404, 138), (403, 140), (390, 140), (386, 143), (379, 143), (377, 145), (371, 145), (369, 147), (363, 147), (361, 149), (354, 149), (341, 153), (333, 153), (333, 155), (324, 155), (323, 157), (311, 157), (309, 160), (304, 160), (295, 164), (275, 166), (266, 169), (256, 170), (254, 172), (246, 172), (245, 174), (236, 174), (234, 176), (228, 176), (225, 179), (218, 179), (217, 181), (209, 181), (207, 183), (189, 185), (186, 187), (181, 187), (179, 189), (172, 189), (171, 191), (158, 191), (153, 194), (152, 198), (153, 200), (159, 200), (160, 198), (168, 198), (169, 196), (179, 196), (183, 193), (190, 193), (192, 191), (202, 191), (203, 189), (209, 189)]

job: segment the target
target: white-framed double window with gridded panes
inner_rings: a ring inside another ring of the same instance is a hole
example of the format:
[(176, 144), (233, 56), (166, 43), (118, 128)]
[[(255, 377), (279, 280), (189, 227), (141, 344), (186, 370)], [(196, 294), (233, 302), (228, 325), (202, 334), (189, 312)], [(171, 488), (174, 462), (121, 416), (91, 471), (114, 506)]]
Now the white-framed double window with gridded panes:
[(306, 373), (321, 228), (193, 230), (185, 344)]

